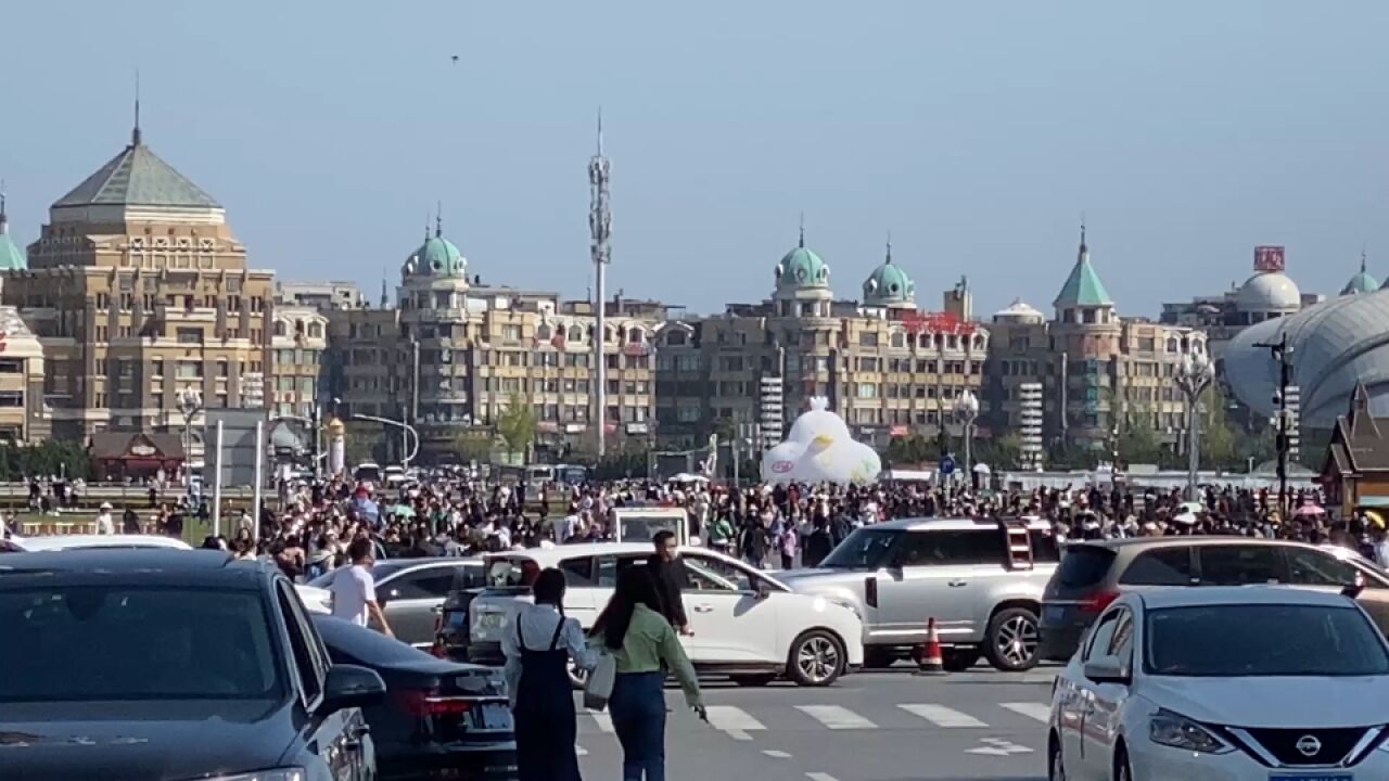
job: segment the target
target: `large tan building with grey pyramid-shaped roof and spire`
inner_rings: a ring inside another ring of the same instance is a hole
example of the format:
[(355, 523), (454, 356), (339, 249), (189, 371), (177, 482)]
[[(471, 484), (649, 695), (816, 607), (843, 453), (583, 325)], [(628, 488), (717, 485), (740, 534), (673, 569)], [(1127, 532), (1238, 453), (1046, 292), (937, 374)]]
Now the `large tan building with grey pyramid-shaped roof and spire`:
[(22, 311), (43, 346), (53, 436), (182, 432), (182, 390), (210, 409), (263, 406), (272, 277), (247, 265), (225, 208), (136, 128), (125, 149), (53, 203), (28, 270), (6, 272), (4, 303)]

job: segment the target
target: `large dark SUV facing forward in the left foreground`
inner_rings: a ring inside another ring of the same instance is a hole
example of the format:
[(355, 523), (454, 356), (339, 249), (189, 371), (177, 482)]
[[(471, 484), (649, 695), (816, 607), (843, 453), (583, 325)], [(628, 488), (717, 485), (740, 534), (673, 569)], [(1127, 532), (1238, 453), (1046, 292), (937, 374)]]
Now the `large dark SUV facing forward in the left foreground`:
[(0, 778), (368, 781), (375, 671), (335, 664), (271, 564), (0, 560)]

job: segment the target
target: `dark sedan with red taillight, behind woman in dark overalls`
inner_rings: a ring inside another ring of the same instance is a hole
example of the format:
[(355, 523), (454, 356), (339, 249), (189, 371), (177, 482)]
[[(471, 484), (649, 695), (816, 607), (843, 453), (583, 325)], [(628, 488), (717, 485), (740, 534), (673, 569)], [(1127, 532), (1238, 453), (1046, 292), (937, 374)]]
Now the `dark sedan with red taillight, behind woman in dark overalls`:
[(314, 624), (333, 661), (371, 667), (390, 696), (364, 709), (383, 780), (513, 778), (515, 732), (501, 670), (435, 659), (331, 616)]

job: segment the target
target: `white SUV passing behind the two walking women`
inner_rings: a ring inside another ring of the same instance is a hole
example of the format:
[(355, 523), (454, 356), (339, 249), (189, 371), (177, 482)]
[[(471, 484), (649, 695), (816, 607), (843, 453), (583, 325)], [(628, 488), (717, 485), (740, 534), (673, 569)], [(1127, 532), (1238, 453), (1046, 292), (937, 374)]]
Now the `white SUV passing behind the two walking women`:
[[(528, 602), (525, 570), (565, 574), (564, 613), (588, 630), (607, 605), (622, 567), (644, 564), (649, 543), (564, 545), (488, 557), (488, 588), (468, 607), (468, 660), (500, 664), (501, 636)], [(863, 664), (863, 624), (851, 610), (789, 588), (736, 559), (703, 548), (681, 549), (689, 573), (685, 591), (693, 636), (681, 643), (701, 674), (740, 685), (786, 677), (826, 687)], [(528, 561), (533, 561), (526, 567)]]

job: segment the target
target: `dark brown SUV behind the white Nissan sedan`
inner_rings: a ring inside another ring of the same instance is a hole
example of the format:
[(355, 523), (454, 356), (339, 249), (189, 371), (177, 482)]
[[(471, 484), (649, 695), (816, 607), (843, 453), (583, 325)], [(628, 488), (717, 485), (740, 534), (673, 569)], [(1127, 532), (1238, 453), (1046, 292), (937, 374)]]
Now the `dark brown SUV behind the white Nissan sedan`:
[(1345, 548), (1247, 536), (1138, 536), (1074, 542), (1042, 598), (1042, 656), (1065, 661), (1120, 595), (1154, 586), (1289, 584), (1336, 592), (1363, 582), (1361, 606), (1389, 631), (1389, 573)]

